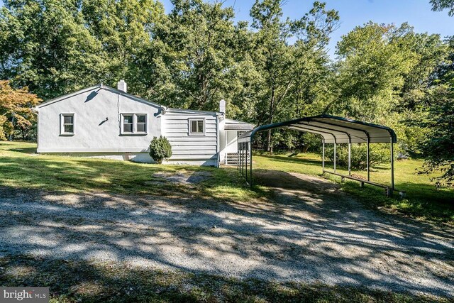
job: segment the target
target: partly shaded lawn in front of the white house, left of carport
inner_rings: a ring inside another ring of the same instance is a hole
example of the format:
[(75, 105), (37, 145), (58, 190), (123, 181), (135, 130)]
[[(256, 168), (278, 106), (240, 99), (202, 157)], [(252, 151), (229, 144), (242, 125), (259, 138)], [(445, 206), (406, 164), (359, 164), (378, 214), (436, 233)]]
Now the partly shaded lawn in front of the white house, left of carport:
[[(35, 155), (35, 143), (0, 142), (0, 186), (53, 192), (111, 192), (118, 194), (192, 194), (218, 199), (253, 199), (235, 170), (194, 165), (153, 165), (99, 158)], [(192, 187), (160, 182), (155, 172), (191, 175), (211, 172), (206, 182)]]

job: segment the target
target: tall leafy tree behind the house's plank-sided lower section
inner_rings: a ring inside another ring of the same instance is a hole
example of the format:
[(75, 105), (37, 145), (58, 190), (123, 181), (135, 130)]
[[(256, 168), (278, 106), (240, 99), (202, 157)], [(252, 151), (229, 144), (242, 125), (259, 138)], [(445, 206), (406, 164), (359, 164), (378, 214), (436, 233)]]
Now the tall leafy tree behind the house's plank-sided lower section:
[(165, 42), (172, 50), (172, 105), (215, 110), (235, 65), (233, 9), (221, 2), (172, 0)]

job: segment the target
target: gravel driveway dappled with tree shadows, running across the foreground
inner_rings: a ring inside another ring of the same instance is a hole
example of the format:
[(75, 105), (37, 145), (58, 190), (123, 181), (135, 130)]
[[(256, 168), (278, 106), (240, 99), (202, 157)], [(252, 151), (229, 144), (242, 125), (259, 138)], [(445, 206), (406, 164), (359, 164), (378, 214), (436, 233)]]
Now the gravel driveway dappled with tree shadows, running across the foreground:
[(272, 200), (1, 190), (0, 256), (454, 296), (452, 229), (365, 209), (316, 177), (256, 175)]

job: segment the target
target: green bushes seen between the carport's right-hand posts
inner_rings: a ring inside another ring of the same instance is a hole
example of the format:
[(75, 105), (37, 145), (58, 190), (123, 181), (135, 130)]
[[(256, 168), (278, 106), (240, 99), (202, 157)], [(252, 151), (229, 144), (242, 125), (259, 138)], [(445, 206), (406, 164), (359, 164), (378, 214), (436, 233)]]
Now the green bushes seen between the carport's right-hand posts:
[[(397, 144), (396, 144), (397, 145)], [(394, 145), (394, 146), (396, 146)], [(367, 145), (352, 144), (351, 167), (356, 170), (365, 170), (367, 167), (366, 158)], [(394, 152), (394, 157), (397, 155)], [(370, 144), (369, 162), (370, 166), (390, 162), (389, 144)], [(332, 144), (326, 144), (326, 158), (334, 160), (334, 148)], [(348, 144), (338, 144), (336, 147), (336, 164), (348, 167)]]

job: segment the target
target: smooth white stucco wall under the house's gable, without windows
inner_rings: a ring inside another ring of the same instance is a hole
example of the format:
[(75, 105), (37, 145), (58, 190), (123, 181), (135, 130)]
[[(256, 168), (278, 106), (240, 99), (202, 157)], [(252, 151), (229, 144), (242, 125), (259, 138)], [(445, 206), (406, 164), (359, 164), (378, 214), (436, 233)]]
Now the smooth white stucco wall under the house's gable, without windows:
[[(74, 113), (72, 136), (60, 134), (62, 113)], [(121, 135), (121, 113), (147, 114), (147, 133)], [(150, 162), (150, 141), (161, 134), (162, 118), (159, 107), (99, 87), (72, 94), (54, 103), (43, 104), (38, 115), (38, 153), (143, 153), (140, 161)]]

